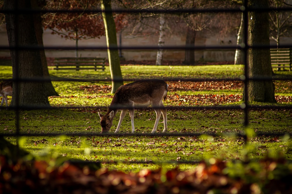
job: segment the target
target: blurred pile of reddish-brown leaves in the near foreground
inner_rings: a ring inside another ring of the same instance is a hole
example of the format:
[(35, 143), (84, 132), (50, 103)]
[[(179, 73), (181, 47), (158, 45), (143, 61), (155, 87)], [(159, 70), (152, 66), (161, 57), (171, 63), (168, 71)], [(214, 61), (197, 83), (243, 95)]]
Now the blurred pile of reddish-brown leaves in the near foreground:
[[(292, 170), (283, 175), (268, 178), (281, 161), (261, 161), (261, 176), (246, 172), (254, 180), (229, 177), (224, 173), (226, 162), (215, 160), (212, 164), (202, 162), (193, 171), (178, 169), (141, 170), (124, 173), (107, 169), (90, 170), (65, 162), (52, 167), (45, 161), (8, 163), (0, 156), (0, 193), (291, 193)], [(276, 174), (276, 173), (274, 173)], [(245, 176), (246, 176), (245, 175)], [(258, 178), (258, 179), (256, 179)]]

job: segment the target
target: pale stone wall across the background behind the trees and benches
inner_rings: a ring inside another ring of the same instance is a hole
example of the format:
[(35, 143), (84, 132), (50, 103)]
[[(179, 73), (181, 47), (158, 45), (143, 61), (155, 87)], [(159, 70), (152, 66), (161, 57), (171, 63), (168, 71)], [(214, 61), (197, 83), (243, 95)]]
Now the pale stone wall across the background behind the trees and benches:
[[(122, 34), (121, 45), (124, 47), (155, 47), (157, 46), (158, 36), (144, 36), (144, 37), (133, 37), (129, 35)], [(117, 36), (118, 45), (119, 34)], [(52, 35), (50, 30), (46, 30), (43, 35), (43, 41), (45, 47), (75, 47), (74, 40), (66, 40), (61, 38), (59, 35)], [(291, 38), (286, 38), (285, 42), (292, 42)], [(165, 46), (178, 46), (184, 47), (185, 45), (185, 34), (181, 36), (178, 35), (167, 35)], [(236, 45), (236, 36), (217, 38), (210, 36), (207, 38), (196, 38), (196, 46), (235, 46)], [(0, 27), (0, 46), (8, 46), (7, 34), (5, 26)], [(100, 49), (86, 49), (79, 50), (79, 56), (102, 56), (107, 57), (107, 50), (101, 49), (106, 48), (105, 36), (96, 39), (89, 40), (79, 40), (79, 47), (95, 47)], [(156, 59), (156, 50), (150, 49), (123, 49), (121, 51), (122, 56), (125, 60), (155, 60)], [(195, 60), (204, 60), (204, 61), (233, 61), (234, 60), (234, 49), (208, 49), (208, 50), (195, 50)], [(8, 50), (0, 50), (0, 57), (10, 56)], [(75, 56), (74, 49), (71, 50), (46, 50), (47, 57), (69, 57)], [(185, 58), (185, 51), (183, 49), (168, 49), (164, 50), (164, 60), (181, 60)]]

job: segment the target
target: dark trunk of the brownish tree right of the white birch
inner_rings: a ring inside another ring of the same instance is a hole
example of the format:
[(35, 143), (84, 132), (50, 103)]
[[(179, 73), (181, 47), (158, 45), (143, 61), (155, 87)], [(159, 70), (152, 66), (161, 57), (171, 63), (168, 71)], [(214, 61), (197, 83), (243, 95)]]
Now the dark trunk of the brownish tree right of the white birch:
[(194, 47), (195, 45), (196, 33), (197, 31), (191, 29), (190, 27), (187, 27), (187, 37), (185, 40), (185, 46), (187, 47), (187, 49), (185, 49), (185, 60), (183, 61), (183, 64), (195, 64), (195, 52), (194, 49), (190, 49), (190, 47)]

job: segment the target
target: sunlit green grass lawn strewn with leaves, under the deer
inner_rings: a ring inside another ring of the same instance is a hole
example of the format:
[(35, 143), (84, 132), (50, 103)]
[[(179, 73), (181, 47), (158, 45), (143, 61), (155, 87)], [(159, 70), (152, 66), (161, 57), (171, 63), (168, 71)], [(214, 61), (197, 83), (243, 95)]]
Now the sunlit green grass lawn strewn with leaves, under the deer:
[[(216, 108), (220, 105), (240, 105), (243, 91), (243, 83), (240, 81), (171, 81), (193, 78), (240, 78), (244, 72), (242, 65), (125, 65), (121, 66), (121, 70), (126, 79), (168, 80), (170, 88), (164, 102), (165, 106), (170, 107), (166, 136), (148, 136), (155, 121), (153, 110), (135, 111), (135, 133), (139, 136), (129, 135), (131, 121), (128, 115), (124, 118), (119, 136), (112, 136), (119, 120), (118, 115), (114, 118), (109, 135), (96, 135), (101, 131), (97, 112), (104, 113), (112, 99), (111, 82), (106, 81), (110, 79), (109, 68), (107, 67), (105, 72), (102, 72), (56, 71), (49, 67), (53, 80), (75, 78), (88, 81), (52, 81), (55, 90), (60, 95), (60, 97), (48, 97), (51, 106), (55, 109), (20, 111), (19, 132), (25, 135), (19, 139), (20, 146), (39, 157), (66, 156), (88, 161), (103, 161), (105, 162), (103, 167), (125, 172), (137, 172), (142, 168), (156, 169), (160, 166), (165, 168), (178, 166), (181, 170), (188, 170), (196, 165), (190, 162), (212, 157), (223, 160), (245, 160), (246, 158), (260, 159), (267, 155), (274, 157), (284, 155), (287, 159), (291, 159), (292, 141), (288, 136), (250, 136), (248, 144), (244, 144), (243, 138), (232, 135), (245, 133), (245, 131), (292, 133), (291, 108), (251, 109), (248, 112), (249, 126), (246, 129), (243, 124), (244, 112), (241, 109), (208, 108), (210, 106)], [(275, 73), (275, 77), (291, 78), (292, 76), (292, 72), (288, 71), (275, 71)], [(11, 66), (0, 66), (0, 78), (12, 78)], [(105, 81), (95, 81), (98, 79)], [(291, 107), (292, 81), (274, 81), (274, 83), (277, 106)], [(10, 101), (11, 97), (8, 98), (8, 102)], [(171, 108), (177, 106), (186, 106), (186, 108)], [(206, 106), (206, 108), (187, 108), (190, 106)], [(1, 134), (15, 133), (16, 117), (14, 111), (5, 109), (0, 111)], [(161, 123), (157, 128), (158, 134), (161, 134), (163, 130), (162, 121), (161, 117)], [(47, 136), (47, 133), (59, 135)], [(189, 133), (217, 133), (218, 135), (184, 135)], [(72, 135), (64, 136), (63, 134)], [(13, 143), (16, 142), (14, 136), (6, 138)], [(146, 163), (142, 163), (145, 161)]]

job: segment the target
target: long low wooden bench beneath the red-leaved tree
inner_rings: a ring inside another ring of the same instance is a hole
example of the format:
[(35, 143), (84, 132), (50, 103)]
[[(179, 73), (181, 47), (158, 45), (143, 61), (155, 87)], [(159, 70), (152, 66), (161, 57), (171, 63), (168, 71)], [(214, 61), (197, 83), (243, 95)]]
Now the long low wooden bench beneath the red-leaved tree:
[(54, 70), (105, 70), (104, 57), (59, 57), (53, 63)]

